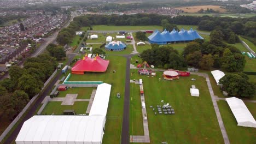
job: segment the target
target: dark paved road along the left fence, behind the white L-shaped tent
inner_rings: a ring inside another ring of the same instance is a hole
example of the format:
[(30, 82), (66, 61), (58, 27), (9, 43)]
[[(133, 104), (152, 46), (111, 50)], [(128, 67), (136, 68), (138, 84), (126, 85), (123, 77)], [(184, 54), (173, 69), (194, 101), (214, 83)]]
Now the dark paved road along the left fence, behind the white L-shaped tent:
[[(72, 61), (74, 56), (75, 55), (68, 55), (68, 62), (66, 63), (66, 65), (69, 65), (69, 63)], [(34, 113), (36, 113), (37, 107), (42, 103), (42, 101), (44, 100), (46, 95), (51, 91), (51, 88), (54, 87), (54, 84), (56, 83), (56, 81), (60, 79), (60, 76), (61, 76), (61, 70), (59, 71), (57, 76), (54, 78), (54, 80), (48, 85), (48, 87), (45, 87), (45, 90), (43, 91), (42, 95), (36, 100), (34, 105), (31, 107), (31, 109), (25, 115), (25, 118), (22, 119), (22, 121), (18, 124), (17, 128), (13, 131), (13, 133), (11, 133), (11, 135), (8, 137), (8, 139), (4, 143), (9, 144), (16, 139), (23, 123), (25, 121), (27, 121), (27, 119), (34, 116)]]

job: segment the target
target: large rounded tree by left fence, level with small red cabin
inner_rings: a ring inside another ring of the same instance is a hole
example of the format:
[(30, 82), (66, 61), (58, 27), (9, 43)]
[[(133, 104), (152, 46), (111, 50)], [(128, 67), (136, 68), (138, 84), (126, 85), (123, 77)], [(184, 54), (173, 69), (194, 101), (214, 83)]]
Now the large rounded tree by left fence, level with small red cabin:
[(20, 77), (18, 87), (26, 92), (31, 99), (34, 95), (40, 92), (40, 89), (43, 87), (43, 83), (34, 79), (32, 75), (25, 73)]

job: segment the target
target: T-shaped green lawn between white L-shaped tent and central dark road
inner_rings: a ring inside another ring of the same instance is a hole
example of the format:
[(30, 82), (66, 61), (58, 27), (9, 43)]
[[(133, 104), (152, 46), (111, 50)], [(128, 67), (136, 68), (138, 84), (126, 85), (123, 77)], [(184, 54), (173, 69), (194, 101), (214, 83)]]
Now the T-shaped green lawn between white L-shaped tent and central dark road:
[[(112, 85), (103, 143), (120, 143), (121, 124), (123, 122), (126, 58), (121, 56), (108, 56), (107, 59), (109, 59), (110, 62), (105, 73), (73, 74), (69, 81), (103, 81)], [(113, 70), (117, 72), (113, 73)], [(120, 93), (120, 99), (117, 98), (117, 93)]]

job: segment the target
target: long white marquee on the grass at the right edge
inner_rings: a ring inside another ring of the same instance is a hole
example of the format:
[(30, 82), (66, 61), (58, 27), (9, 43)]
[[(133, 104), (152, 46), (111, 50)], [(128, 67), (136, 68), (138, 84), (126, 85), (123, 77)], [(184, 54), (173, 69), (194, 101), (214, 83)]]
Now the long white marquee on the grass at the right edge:
[(228, 102), (229, 107), (236, 118), (237, 125), (256, 128), (255, 119), (241, 99), (232, 97), (226, 98), (226, 101)]

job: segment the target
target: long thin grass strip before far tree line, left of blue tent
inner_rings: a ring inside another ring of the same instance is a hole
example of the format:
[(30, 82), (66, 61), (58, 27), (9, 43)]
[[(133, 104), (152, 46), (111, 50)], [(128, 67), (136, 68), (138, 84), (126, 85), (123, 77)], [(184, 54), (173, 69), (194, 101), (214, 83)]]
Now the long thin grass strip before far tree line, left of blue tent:
[[(88, 27), (83, 27), (82, 31), (87, 31)], [(107, 26), (95, 25), (92, 26), (93, 31), (143, 31), (143, 30), (162, 30), (161, 26)]]

